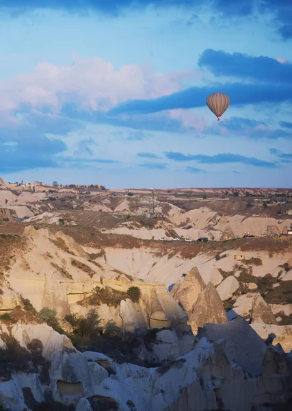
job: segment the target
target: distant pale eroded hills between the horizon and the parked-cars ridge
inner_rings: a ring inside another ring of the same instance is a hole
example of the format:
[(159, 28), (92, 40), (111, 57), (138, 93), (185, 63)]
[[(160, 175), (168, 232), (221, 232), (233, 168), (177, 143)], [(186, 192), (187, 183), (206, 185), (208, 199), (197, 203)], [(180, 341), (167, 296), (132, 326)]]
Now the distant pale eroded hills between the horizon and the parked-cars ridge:
[(2, 221), (81, 225), (156, 240), (220, 240), (226, 230), (229, 238), (280, 235), (292, 227), (289, 190), (157, 190), (154, 197), (148, 190), (50, 191), (0, 190)]

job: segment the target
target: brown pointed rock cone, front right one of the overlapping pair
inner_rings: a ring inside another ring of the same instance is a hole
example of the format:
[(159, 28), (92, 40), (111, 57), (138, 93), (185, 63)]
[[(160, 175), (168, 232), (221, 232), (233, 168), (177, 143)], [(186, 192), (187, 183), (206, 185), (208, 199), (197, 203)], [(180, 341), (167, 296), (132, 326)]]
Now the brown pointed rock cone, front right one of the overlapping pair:
[(198, 300), (194, 304), (189, 315), (188, 324), (194, 334), (197, 334), (198, 327), (207, 323), (226, 323), (227, 317), (223, 303), (215, 286), (209, 282), (206, 288), (198, 295)]

